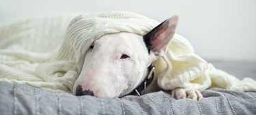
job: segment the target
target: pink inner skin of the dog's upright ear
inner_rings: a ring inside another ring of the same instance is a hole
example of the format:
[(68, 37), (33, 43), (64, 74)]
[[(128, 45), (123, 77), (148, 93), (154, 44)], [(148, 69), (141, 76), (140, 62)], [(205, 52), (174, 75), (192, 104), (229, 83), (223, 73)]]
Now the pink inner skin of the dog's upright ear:
[(151, 49), (156, 55), (163, 56), (163, 54), (165, 54), (168, 48), (167, 46), (175, 33), (177, 20), (177, 16), (169, 18), (155, 33)]

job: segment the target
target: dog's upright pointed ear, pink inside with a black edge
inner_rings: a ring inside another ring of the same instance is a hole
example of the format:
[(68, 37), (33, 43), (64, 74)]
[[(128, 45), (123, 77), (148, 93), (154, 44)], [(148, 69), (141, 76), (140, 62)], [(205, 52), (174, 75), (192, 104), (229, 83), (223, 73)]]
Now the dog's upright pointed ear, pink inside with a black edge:
[(168, 44), (175, 33), (177, 21), (178, 17), (172, 16), (143, 36), (149, 52), (151, 50), (156, 56), (165, 55)]

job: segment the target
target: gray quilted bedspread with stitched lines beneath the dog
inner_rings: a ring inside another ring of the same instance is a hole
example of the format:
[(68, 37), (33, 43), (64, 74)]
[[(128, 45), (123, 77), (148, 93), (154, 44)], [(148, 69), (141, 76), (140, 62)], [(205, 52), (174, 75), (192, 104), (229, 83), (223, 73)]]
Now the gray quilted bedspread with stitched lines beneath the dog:
[[(228, 66), (231, 64), (233, 66)], [(237, 75), (256, 75), (255, 63), (217, 61), (215, 65)], [(0, 114), (256, 114), (256, 93), (210, 88), (202, 91), (202, 94), (204, 98), (200, 101), (176, 100), (163, 91), (141, 97), (76, 97), (68, 93), (0, 82)]]

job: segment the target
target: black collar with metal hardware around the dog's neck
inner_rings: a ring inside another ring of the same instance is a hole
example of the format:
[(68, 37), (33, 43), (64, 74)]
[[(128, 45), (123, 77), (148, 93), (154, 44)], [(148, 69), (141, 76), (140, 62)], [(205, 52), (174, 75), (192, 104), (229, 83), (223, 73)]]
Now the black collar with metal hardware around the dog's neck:
[(131, 93), (129, 93), (128, 95), (137, 95), (137, 96), (140, 96), (140, 95), (143, 95), (142, 91), (145, 90), (145, 88), (147, 88), (147, 86), (149, 86), (153, 79), (154, 79), (154, 74), (155, 74), (155, 67), (154, 65), (150, 65), (150, 67), (147, 67), (148, 71), (150, 71), (148, 74), (147, 74), (147, 77), (145, 77), (145, 80), (143, 80), (141, 82), (141, 84), (139, 84), (139, 86), (137, 86), (137, 88), (135, 88)]

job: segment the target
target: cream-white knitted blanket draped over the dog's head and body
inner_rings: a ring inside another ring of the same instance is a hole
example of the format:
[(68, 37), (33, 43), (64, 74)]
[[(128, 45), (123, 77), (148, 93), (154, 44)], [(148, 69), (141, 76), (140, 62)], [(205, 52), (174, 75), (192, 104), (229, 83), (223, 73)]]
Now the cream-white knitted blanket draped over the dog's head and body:
[[(0, 29), (0, 80), (71, 92), (85, 52), (94, 40), (107, 33), (123, 31), (144, 35), (159, 24), (131, 12), (74, 16), (65, 14), (25, 20)], [(180, 35), (173, 37), (163, 59), (155, 62), (161, 88), (217, 86), (256, 91), (254, 80), (238, 80), (215, 69), (197, 56), (193, 46)], [(168, 67), (172, 69), (168, 71)]]

